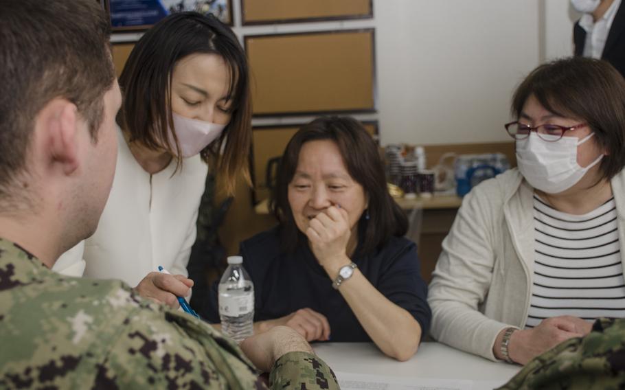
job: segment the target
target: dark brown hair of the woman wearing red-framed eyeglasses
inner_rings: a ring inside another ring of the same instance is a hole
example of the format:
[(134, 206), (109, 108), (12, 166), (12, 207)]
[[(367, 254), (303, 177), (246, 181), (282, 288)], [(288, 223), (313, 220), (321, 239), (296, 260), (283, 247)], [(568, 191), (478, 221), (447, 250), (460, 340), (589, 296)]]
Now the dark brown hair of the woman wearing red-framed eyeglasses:
[(584, 57), (562, 58), (534, 69), (512, 98), (512, 115), (521, 117), (530, 96), (548, 111), (580, 119), (608, 151), (601, 161), (602, 179), (625, 166), (625, 80), (609, 62)]

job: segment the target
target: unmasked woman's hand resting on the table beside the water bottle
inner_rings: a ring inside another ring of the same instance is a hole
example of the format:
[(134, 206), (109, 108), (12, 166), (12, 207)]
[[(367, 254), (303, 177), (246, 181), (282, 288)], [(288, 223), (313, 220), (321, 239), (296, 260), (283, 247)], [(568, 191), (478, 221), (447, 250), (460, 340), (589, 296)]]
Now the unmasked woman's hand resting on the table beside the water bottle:
[(310, 308), (299, 309), (284, 317), (260, 321), (254, 325), (255, 333), (266, 332), (275, 326), (284, 325), (296, 330), (306, 341), (330, 340), (330, 323), (328, 323), (328, 319), (323, 314), (315, 312), (315, 310)]

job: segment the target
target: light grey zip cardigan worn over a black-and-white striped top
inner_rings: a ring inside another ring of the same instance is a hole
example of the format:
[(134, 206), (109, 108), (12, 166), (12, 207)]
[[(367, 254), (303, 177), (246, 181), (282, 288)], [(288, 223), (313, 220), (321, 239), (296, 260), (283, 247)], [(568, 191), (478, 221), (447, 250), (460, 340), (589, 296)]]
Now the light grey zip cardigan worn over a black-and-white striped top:
[[(625, 254), (625, 170), (611, 184)], [(512, 169), (464, 197), (429, 286), (430, 332), (441, 343), (497, 360), (497, 334), (525, 326), (534, 275), (533, 194)]]

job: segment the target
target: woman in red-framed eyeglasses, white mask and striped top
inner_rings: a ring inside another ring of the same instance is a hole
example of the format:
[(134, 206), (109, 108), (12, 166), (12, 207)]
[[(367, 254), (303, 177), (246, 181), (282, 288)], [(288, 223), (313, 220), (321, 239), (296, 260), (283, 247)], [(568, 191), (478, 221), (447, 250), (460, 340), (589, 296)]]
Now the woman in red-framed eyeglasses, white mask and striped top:
[(541, 65), (514, 93), (518, 169), (468, 194), (429, 288), (431, 334), (527, 363), (625, 317), (625, 80), (611, 65)]

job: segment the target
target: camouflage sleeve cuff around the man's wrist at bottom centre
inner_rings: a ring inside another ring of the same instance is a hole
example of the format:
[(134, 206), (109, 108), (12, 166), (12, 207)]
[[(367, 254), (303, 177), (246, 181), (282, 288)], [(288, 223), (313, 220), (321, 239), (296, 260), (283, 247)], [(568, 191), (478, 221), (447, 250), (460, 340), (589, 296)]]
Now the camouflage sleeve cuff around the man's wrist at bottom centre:
[(332, 369), (307, 352), (289, 352), (276, 360), (269, 382), (272, 389), (339, 389)]

